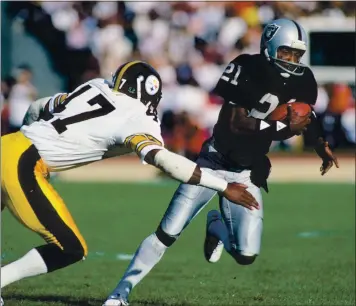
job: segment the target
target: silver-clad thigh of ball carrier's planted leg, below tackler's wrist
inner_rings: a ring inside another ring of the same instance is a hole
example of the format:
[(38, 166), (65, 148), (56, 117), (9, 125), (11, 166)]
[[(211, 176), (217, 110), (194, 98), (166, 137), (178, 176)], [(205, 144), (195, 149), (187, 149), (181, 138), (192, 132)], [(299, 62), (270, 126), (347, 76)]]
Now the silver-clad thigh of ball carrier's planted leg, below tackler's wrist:
[(162, 230), (171, 236), (179, 235), (215, 194), (206, 187), (180, 184), (161, 221)]

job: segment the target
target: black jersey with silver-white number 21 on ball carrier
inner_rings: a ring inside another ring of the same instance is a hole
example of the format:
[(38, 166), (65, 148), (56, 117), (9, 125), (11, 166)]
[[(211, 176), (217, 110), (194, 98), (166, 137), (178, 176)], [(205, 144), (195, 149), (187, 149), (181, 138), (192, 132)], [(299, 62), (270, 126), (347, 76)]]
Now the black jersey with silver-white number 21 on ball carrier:
[(237, 135), (230, 130), (233, 107), (243, 107), (249, 116), (265, 119), (278, 105), (298, 101), (314, 104), (317, 84), (312, 71), (302, 76), (283, 77), (264, 55), (243, 54), (225, 69), (214, 92), (224, 99), (214, 127), (216, 149), (231, 163), (248, 166), (266, 155), (272, 140), (259, 136)]

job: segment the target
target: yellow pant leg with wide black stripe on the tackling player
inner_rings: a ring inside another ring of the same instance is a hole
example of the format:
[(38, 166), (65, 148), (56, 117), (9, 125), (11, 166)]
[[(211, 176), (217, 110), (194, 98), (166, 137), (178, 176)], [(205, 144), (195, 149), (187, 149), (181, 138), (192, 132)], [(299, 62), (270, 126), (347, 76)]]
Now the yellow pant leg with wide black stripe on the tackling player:
[[(17, 133), (16, 133), (17, 134)], [(1, 189), (5, 205), (26, 227), (66, 250), (86, 243), (62, 198), (46, 179), (48, 169), (23, 135), (2, 141)]]

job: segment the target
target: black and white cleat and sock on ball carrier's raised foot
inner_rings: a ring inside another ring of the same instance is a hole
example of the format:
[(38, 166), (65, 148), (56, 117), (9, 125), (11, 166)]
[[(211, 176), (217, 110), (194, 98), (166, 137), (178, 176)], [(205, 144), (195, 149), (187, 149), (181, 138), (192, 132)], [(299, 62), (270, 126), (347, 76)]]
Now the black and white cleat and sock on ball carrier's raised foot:
[(206, 220), (206, 236), (204, 241), (204, 256), (205, 259), (210, 263), (217, 262), (224, 250), (223, 242), (219, 238), (209, 233), (209, 226), (212, 224), (212, 222), (218, 220), (222, 222), (220, 212), (217, 210), (211, 210), (208, 212)]

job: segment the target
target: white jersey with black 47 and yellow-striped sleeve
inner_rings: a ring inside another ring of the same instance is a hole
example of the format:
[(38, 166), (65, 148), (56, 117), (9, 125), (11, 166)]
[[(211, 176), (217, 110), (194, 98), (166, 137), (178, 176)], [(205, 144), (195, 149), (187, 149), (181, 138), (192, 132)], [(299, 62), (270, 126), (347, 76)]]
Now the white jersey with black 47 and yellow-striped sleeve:
[(134, 151), (143, 159), (163, 146), (157, 117), (141, 101), (113, 92), (104, 79), (79, 86), (58, 106), (49, 103), (49, 110), (21, 131), (51, 171)]

